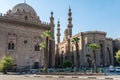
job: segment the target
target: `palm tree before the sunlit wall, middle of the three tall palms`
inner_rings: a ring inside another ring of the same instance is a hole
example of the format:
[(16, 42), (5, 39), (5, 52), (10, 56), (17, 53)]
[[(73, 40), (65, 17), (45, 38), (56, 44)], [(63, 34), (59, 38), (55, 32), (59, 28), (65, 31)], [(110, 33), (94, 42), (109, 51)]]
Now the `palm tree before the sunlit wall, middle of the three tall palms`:
[(79, 37), (75, 37), (75, 38), (72, 39), (72, 43), (75, 44), (75, 47), (76, 47), (76, 61), (78, 61), (77, 62), (77, 67), (78, 68), (80, 66), (80, 62), (79, 62), (79, 58), (80, 58), (80, 56), (79, 56), (79, 45), (78, 45), (79, 40), (80, 40)]

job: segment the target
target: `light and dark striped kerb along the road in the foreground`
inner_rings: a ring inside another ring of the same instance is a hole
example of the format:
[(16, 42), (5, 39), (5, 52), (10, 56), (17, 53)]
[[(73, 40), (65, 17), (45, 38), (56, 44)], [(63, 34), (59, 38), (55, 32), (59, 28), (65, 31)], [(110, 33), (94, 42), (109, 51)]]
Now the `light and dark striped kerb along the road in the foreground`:
[(41, 77), (41, 78), (78, 78), (93, 80), (120, 80), (120, 76), (78, 76), (78, 75), (26, 75), (25, 77)]

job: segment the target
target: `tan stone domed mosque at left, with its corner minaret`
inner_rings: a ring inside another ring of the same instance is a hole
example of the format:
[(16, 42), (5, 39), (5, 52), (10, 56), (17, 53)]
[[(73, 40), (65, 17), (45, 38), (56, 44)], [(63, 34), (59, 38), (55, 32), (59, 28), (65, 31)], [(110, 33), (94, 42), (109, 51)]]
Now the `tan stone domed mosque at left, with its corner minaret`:
[[(44, 54), (39, 44), (44, 41), (42, 32), (50, 30), (54, 34), (54, 17), (51, 13), (50, 23), (42, 22), (35, 10), (26, 3), (20, 3), (0, 15), (0, 59), (12, 56), (17, 67), (43, 67)], [(54, 67), (54, 45), (49, 52), (49, 67)]]

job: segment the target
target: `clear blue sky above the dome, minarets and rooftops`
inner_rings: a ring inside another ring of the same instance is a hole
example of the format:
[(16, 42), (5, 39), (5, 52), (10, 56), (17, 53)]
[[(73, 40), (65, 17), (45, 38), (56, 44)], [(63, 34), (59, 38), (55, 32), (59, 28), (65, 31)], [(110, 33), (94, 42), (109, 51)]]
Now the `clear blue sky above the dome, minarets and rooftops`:
[[(6, 13), (24, 0), (0, 0), (0, 13)], [(50, 22), (54, 12), (55, 32), (60, 20), (61, 41), (68, 24), (68, 9), (72, 10), (73, 35), (85, 31), (104, 31), (107, 37), (120, 38), (120, 0), (26, 0), (41, 21)], [(55, 34), (56, 35), (56, 34)]]

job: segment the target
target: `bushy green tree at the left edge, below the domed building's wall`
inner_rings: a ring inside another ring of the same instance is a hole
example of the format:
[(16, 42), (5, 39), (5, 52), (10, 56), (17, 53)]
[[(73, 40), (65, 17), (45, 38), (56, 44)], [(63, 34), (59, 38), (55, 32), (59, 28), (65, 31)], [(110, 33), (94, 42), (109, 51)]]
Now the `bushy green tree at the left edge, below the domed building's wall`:
[(0, 71), (2, 71), (4, 74), (7, 74), (7, 70), (11, 69), (13, 64), (13, 58), (4, 56), (0, 61)]

